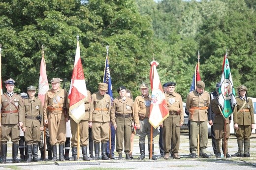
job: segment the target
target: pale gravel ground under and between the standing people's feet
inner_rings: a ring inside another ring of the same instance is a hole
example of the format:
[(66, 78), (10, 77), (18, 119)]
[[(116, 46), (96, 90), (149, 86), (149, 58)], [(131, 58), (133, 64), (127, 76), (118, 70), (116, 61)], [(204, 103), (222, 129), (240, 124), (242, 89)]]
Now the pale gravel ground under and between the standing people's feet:
[[(252, 135), (251, 139), (251, 157), (250, 158), (215, 158), (213, 155), (213, 149), (211, 145), (211, 139), (208, 141), (207, 153), (211, 155), (209, 159), (196, 158), (191, 159), (189, 157), (189, 138), (188, 133), (181, 134), (181, 144), (180, 144), (180, 160), (175, 160), (170, 158), (169, 160), (164, 160), (160, 157), (160, 151), (158, 147), (158, 136), (155, 138), (155, 154), (158, 157), (157, 161), (152, 161), (148, 159), (148, 152), (146, 151), (146, 159), (144, 161), (134, 160), (109, 160), (109, 161), (65, 161), (65, 162), (49, 162), (42, 161), (38, 163), (18, 163), (11, 164), (11, 143), (8, 145), (8, 164), (0, 164), (0, 169), (5, 170), (231, 170), (231, 169), (243, 169), (251, 170), (256, 168), (256, 135)], [(147, 144), (146, 144), (147, 148)], [(147, 149), (146, 149), (147, 150)], [(228, 140), (228, 151), (234, 154), (237, 151), (237, 142), (234, 136)], [(117, 157), (117, 153), (115, 156)], [(138, 146), (138, 137), (134, 139), (133, 155), (137, 158), (140, 155)], [(40, 154), (39, 154), (40, 156)], [(71, 156), (71, 151), (70, 151)], [(125, 154), (123, 154), (123, 157)], [(81, 152), (80, 152), (81, 157)], [(80, 158), (81, 160), (81, 158)]]

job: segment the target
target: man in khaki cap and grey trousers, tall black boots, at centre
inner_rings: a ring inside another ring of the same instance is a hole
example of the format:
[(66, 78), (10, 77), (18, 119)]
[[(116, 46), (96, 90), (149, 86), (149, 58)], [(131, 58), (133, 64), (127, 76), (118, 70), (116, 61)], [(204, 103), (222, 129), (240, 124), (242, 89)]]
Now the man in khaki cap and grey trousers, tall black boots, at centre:
[[(151, 124), (149, 123), (149, 112), (151, 98), (149, 96), (149, 86), (146, 84), (140, 85), (141, 95), (137, 96), (134, 100), (133, 116), (136, 124), (136, 135), (139, 136), (139, 149), (140, 157), (139, 160), (145, 159), (145, 139), (148, 136), (148, 148), (150, 153), (150, 142), (151, 142)], [(153, 139), (152, 139), (152, 159), (157, 160), (154, 155), (154, 138), (158, 135), (158, 129), (153, 128)]]

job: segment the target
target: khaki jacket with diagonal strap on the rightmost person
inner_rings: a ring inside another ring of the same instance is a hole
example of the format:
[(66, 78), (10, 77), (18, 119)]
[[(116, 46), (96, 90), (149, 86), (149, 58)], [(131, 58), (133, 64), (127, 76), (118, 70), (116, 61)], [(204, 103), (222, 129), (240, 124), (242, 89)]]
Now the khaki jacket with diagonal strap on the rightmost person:
[(252, 125), (254, 124), (254, 106), (252, 99), (248, 99), (248, 102), (245, 104), (243, 109), (249, 110), (249, 112), (244, 112), (241, 110), (239, 113), (237, 111), (243, 106), (245, 100), (241, 100), (240, 97), (236, 97), (237, 106), (235, 107), (234, 113), (233, 113), (233, 120), (234, 124), (237, 123), (238, 125)]

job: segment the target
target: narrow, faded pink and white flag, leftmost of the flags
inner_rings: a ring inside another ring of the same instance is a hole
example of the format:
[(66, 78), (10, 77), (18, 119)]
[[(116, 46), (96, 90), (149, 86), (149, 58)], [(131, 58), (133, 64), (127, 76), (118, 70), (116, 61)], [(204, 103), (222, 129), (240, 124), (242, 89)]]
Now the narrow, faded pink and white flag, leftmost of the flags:
[(49, 90), (49, 84), (48, 84), (48, 79), (46, 74), (46, 64), (44, 60), (44, 51), (43, 51), (41, 65), (40, 65), (39, 85), (38, 85), (38, 98), (41, 100), (42, 105), (44, 105), (45, 94), (48, 90)]

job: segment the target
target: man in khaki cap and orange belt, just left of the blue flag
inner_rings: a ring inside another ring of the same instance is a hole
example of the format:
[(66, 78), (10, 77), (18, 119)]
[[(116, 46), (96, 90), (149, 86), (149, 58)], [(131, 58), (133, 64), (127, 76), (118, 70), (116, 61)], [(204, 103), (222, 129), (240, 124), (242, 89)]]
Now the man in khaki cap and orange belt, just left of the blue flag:
[(111, 98), (106, 91), (106, 83), (98, 84), (98, 92), (92, 95), (92, 105), (89, 116), (89, 127), (92, 127), (92, 138), (95, 147), (95, 160), (99, 160), (99, 143), (101, 142), (101, 159), (109, 160), (106, 155), (109, 140), (109, 126), (111, 113)]

